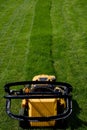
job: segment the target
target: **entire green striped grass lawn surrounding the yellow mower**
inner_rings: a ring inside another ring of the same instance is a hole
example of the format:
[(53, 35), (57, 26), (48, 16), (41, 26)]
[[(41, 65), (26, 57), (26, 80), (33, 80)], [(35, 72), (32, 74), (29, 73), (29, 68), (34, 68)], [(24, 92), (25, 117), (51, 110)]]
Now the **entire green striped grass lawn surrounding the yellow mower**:
[(66, 130), (87, 130), (87, 0), (0, 0), (0, 130), (20, 129), (4, 85), (42, 73), (73, 86)]

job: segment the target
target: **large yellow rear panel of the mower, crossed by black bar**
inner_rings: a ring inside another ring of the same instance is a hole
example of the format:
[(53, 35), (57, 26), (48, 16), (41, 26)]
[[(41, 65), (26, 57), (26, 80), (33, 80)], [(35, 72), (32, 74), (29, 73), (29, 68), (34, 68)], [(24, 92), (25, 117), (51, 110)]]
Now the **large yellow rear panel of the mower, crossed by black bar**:
[[(30, 117), (47, 117), (57, 115), (57, 99), (29, 99)], [(55, 121), (30, 122), (31, 126), (54, 126)]]

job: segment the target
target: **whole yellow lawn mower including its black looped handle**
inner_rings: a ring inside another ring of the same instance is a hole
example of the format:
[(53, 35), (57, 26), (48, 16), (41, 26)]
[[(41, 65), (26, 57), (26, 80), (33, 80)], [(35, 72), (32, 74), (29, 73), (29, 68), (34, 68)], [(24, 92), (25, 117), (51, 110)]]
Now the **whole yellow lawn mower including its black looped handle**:
[[(13, 89), (15, 86), (19, 89)], [(57, 127), (58, 121), (64, 121), (72, 113), (72, 86), (56, 82), (54, 75), (37, 75), (32, 81), (8, 83), (4, 88), (6, 113), (19, 120), (22, 128)], [(21, 99), (18, 114), (11, 111), (14, 99)]]

